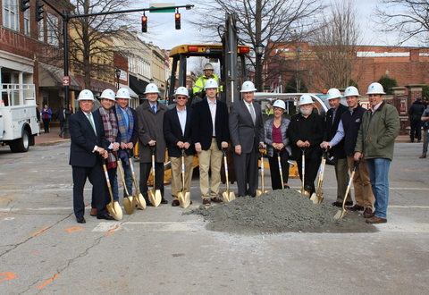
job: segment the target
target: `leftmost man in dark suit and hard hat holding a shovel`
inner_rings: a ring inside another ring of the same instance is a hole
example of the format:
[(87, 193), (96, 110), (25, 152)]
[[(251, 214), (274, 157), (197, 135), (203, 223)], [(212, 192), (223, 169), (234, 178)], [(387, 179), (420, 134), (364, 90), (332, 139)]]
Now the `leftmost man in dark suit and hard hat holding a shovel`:
[(106, 198), (105, 173), (102, 160), (97, 154), (107, 158), (106, 149), (110, 142), (105, 139), (105, 129), (101, 115), (91, 114), (94, 106), (94, 95), (89, 90), (82, 90), (79, 98), (80, 111), (72, 114), (69, 119), (71, 135), (70, 164), (73, 176), (73, 209), (78, 223), (86, 223), (83, 217), (85, 204), (83, 189), (87, 178), (93, 185), (94, 200), (97, 207), (97, 219), (113, 220), (107, 214), (105, 206), (110, 202)]

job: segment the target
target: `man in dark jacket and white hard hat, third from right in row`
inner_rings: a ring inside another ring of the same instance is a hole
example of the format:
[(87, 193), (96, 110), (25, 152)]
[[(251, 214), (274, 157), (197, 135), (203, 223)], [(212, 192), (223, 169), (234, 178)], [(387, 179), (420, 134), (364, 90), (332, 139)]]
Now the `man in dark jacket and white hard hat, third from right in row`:
[[(320, 145), (324, 149), (329, 146), (330, 141), (338, 130), (341, 114), (347, 111), (347, 106), (341, 104), (340, 90), (329, 89), (326, 93), (326, 99), (331, 108), (326, 112), (324, 120), (324, 141)], [(341, 139), (335, 146), (332, 146), (328, 153), (333, 155), (333, 166), (335, 168), (335, 178), (337, 179), (337, 199), (332, 203), (332, 206), (342, 206), (342, 200), (346, 195), (349, 183), (349, 166), (347, 164), (347, 156), (344, 153), (344, 139)], [(348, 193), (346, 206), (352, 205), (353, 201), (351, 200), (350, 193)]]

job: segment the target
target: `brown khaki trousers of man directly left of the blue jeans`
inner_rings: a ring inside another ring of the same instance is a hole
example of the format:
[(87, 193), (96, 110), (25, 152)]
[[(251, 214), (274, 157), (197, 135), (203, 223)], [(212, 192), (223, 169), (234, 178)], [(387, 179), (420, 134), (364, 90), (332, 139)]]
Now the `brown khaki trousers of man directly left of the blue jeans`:
[[(350, 172), (353, 170), (354, 160), (353, 155), (347, 156)], [(356, 168), (355, 177), (353, 180), (355, 188), (355, 200), (359, 206), (374, 209), (374, 194), (371, 190), (371, 182), (369, 179), (368, 164), (366, 161), (361, 161)]]

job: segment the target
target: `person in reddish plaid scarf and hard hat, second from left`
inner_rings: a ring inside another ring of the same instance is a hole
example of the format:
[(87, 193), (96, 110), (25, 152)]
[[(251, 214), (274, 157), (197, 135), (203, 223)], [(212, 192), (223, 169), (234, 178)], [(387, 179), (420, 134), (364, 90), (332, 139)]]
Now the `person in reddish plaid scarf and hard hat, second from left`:
[[(100, 96), (100, 106), (94, 112), (95, 116), (100, 115), (103, 127), (105, 129), (105, 139), (110, 142), (110, 145), (107, 149), (107, 173), (109, 175), (110, 186), (112, 188), (112, 193), (114, 201), (119, 201), (118, 193), (118, 181), (116, 179), (117, 164), (112, 151), (117, 151), (119, 149), (119, 142), (121, 141), (118, 136), (118, 122), (116, 115), (114, 114), (114, 104), (115, 104), (115, 95), (114, 90), (105, 89)], [(106, 198), (110, 199), (110, 193), (108, 190), (105, 190)], [(97, 216), (97, 207), (95, 204), (95, 190), (92, 190), (92, 203), (91, 203), (91, 216)]]

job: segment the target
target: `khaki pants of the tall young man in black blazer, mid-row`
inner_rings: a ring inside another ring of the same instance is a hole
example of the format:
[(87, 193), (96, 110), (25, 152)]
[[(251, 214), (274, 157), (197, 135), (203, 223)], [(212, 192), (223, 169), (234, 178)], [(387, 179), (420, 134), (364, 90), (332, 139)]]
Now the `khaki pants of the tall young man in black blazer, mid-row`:
[[(217, 147), (216, 139), (212, 139), (209, 149), (198, 154), (199, 164), (199, 186), (201, 198), (219, 197), (219, 186), (221, 185), (221, 165), (223, 152)], [(208, 170), (211, 170), (212, 186), (208, 181)]]

